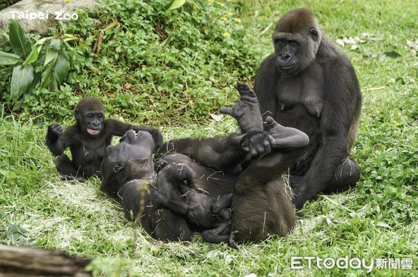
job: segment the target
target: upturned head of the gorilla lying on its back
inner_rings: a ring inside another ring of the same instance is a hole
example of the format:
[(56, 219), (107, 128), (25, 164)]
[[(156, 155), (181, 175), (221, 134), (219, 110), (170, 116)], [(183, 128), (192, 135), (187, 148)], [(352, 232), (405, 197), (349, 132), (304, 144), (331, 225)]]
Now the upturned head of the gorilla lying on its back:
[(118, 145), (110, 145), (106, 149), (101, 169), (103, 180), (116, 179), (121, 185), (125, 180), (150, 177), (154, 172), (154, 149), (150, 133), (127, 131)]

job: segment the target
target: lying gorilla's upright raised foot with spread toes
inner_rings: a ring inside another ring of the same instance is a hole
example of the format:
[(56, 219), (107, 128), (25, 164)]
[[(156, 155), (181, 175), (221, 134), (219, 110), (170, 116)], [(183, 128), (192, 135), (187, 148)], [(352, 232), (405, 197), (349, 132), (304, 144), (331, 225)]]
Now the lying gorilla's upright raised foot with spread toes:
[(245, 83), (237, 82), (235, 88), (241, 95), (240, 101), (233, 105), (232, 108), (223, 106), (220, 112), (233, 116), (238, 121), (238, 125), (240, 125), (243, 134), (248, 132), (262, 132), (263, 118), (261, 118), (256, 93)]

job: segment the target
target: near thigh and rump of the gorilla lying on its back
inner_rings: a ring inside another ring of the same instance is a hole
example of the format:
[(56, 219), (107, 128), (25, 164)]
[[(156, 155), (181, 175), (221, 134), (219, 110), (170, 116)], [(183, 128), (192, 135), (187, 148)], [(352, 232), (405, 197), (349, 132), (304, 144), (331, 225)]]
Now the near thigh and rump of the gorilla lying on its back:
[(285, 237), (291, 232), (295, 208), (291, 189), (281, 175), (293, 166), (299, 153), (276, 150), (253, 161), (240, 175), (231, 205), (237, 241), (258, 242), (270, 235)]

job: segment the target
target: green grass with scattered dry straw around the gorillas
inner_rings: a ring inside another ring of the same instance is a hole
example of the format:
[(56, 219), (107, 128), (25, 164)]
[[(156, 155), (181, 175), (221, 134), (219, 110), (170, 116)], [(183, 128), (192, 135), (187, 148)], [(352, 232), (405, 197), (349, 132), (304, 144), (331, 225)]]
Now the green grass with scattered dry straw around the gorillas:
[[(219, 4), (214, 1), (213, 5)], [(98, 258), (93, 263), (95, 271), (106, 276), (366, 275), (363, 269), (291, 269), (292, 256), (346, 255), (366, 259), (413, 258), (415, 271), (374, 269), (372, 276), (415, 276), (418, 266), (418, 6), (411, 1), (319, 0), (233, 1), (226, 3), (229, 5), (235, 8), (242, 26), (253, 38), (251, 51), (255, 54), (251, 52), (247, 56), (253, 56), (247, 65), (258, 65), (272, 51), (270, 38), (274, 22), (288, 8), (297, 6), (314, 9), (332, 40), (344, 37), (364, 40), (353, 50), (352, 45), (343, 46), (353, 61), (364, 98), (353, 150), (353, 157), (362, 166), (362, 179), (357, 187), (335, 196), (318, 196), (307, 203), (298, 213), (293, 234), (283, 239), (242, 245), (238, 251), (223, 244), (203, 243), (199, 237), (188, 244), (164, 244), (125, 221), (121, 208), (100, 193), (99, 180), (82, 184), (59, 179), (54, 159), (43, 145), (46, 123), (50, 120), (3, 115), (0, 120), (0, 242), (60, 248), (71, 254), (95, 257)], [(260, 31), (270, 23), (272, 26), (261, 35)], [(227, 31), (227, 26), (224, 28)], [(408, 41), (413, 42), (412, 47)], [(400, 56), (391, 58), (385, 54), (392, 51)], [(202, 93), (197, 88), (199, 84), (206, 86), (206, 74), (210, 71), (199, 74), (192, 60), (181, 61), (188, 70), (196, 70), (190, 72), (196, 78), (193, 85), (196, 88), (189, 95), (195, 101), (194, 97)], [(105, 70), (106, 65), (99, 69)], [(219, 88), (218, 92), (229, 93), (222, 101), (232, 104), (231, 88), (238, 74), (233, 70), (233, 63), (217, 70), (214, 78), (222, 81), (216, 86), (228, 87), (227, 90)], [(248, 70), (241, 78), (254, 81), (254, 72), (255, 69)], [(76, 87), (77, 93), (79, 85)], [(90, 89), (92, 93), (94, 89)], [(106, 101), (111, 107), (112, 97)], [(176, 106), (183, 100), (171, 101)], [(180, 114), (187, 115), (187, 120), (179, 125), (155, 118), (157, 122), (165, 122), (164, 139), (233, 132), (236, 128), (233, 120), (223, 118), (218, 122), (208, 115), (222, 103), (206, 101), (208, 107), (199, 110), (194, 118), (192, 106), (180, 110)], [(153, 122), (154, 116), (157, 114), (147, 114), (145, 118)], [(143, 119), (140, 111), (137, 116), (130, 116), (131, 121)]]

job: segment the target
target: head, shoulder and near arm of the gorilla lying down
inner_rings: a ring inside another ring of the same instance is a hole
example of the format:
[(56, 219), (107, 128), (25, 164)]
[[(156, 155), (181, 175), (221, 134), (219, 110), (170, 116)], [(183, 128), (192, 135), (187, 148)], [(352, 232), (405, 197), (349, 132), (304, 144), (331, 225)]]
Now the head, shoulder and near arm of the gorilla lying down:
[(154, 239), (190, 241), (192, 232), (182, 216), (154, 205), (153, 152), (148, 132), (128, 131), (118, 145), (110, 145), (101, 166), (100, 190), (122, 204), (125, 217), (137, 220)]

